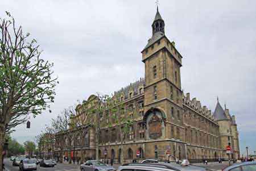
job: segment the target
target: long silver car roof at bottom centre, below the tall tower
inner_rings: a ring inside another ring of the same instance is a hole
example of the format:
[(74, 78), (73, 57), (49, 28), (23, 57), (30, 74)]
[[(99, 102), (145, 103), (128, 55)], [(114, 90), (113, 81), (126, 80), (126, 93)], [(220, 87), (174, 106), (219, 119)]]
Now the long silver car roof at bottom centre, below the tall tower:
[(124, 164), (122, 166), (119, 166), (118, 171), (123, 170), (157, 170), (157, 171), (173, 171), (173, 170), (180, 170), (180, 171), (206, 171), (208, 169), (201, 168), (199, 166), (193, 166), (193, 165), (181, 165), (176, 163), (132, 163), (132, 164)]

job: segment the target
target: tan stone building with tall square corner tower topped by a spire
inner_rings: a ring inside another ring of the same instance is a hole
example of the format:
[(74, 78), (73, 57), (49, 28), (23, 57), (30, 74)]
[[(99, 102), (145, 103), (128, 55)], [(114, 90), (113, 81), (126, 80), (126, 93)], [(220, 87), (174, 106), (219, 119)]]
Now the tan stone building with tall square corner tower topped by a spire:
[[(158, 9), (151, 27), (152, 37), (142, 50), (145, 77), (115, 92), (121, 95), (125, 108), (130, 109), (127, 115), (134, 120), (130, 133), (125, 136), (125, 162), (137, 157), (139, 160), (228, 159), (226, 145), (232, 146), (232, 157), (238, 159), (240, 151), (234, 115), (231, 117), (219, 102), (212, 114), (199, 100), (191, 99), (189, 93), (184, 94), (180, 76), (183, 56), (174, 41), (164, 34), (165, 23)], [(86, 134), (79, 137), (85, 139), (85, 143), (74, 149), (77, 156), (81, 156), (79, 149), (82, 148), (82, 155), (95, 158), (93, 130)], [(63, 142), (63, 151), (68, 155), (72, 149), (65, 149), (65, 145), (72, 142), (68, 139)], [(119, 162), (120, 145), (114, 126), (101, 128), (100, 159)]]

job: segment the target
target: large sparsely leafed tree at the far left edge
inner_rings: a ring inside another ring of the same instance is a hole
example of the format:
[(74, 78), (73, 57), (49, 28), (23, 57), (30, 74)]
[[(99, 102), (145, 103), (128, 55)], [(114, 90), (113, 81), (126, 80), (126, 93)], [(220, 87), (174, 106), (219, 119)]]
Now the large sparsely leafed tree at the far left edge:
[(0, 19), (0, 154), (6, 132), (27, 122), (28, 115), (35, 117), (47, 109), (57, 83), (52, 78), (53, 64), (40, 58), (36, 40), (28, 40), (30, 34), (24, 35), (6, 14), (8, 19)]

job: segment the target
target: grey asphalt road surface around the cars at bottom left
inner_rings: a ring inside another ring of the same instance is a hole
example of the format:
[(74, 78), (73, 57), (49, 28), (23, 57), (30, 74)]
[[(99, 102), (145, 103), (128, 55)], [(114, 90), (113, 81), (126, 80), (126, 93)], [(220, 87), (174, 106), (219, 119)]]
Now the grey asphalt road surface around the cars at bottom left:
[[(10, 159), (5, 159), (3, 161), (5, 163), (6, 170), (10, 171), (18, 171), (19, 166), (13, 166), (13, 162)], [(38, 165), (38, 171), (40, 170), (48, 170), (48, 171), (80, 171), (79, 165), (71, 165), (71, 164), (57, 164), (54, 168), (43, 168)]]

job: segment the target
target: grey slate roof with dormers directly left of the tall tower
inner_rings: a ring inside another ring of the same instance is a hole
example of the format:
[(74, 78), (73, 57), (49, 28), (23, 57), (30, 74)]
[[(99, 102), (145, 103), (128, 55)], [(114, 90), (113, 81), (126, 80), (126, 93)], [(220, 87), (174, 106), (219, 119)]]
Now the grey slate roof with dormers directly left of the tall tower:
[(133, 90), (133, 92), (134, 92), (133, 95), (137, 95), (137, 94), (139, 94), (139, 92), (138, 92), (139, 91), (139, 86), (143, 85), (143, 87), (144, 87), (145, 84), (146, 84), (145, 79), (141, 78), (141, 80), (131, 83), (131, 85), (126, 86), (126, 87), (122, 88), (121, 90), (117, 91), (117, 93), (125, 94), (125, 99), (126, 99), (126, 98), (128, 98), (130, 89)]

